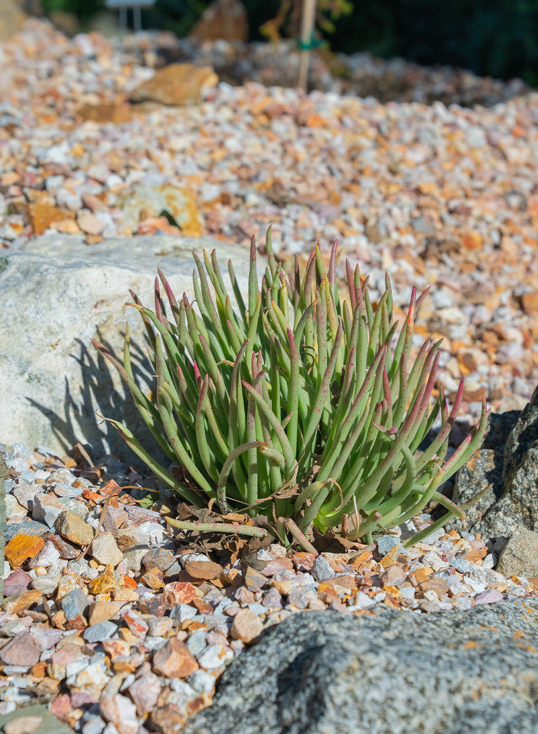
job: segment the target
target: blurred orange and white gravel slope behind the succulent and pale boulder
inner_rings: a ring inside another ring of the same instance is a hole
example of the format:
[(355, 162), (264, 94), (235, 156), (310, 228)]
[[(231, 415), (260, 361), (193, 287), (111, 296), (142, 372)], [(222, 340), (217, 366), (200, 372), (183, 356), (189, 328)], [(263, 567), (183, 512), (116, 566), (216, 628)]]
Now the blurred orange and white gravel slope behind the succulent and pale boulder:
[[(448, 394), (467, 376), (462, 418), (476, 421), (482, 396), (494, 411), (526, 404), (538, 377), (537, 95), (470, 109), (221, 83), (193, 107), (129, 105), (154, 73), (139, 64), (158, 65), (166, 43), (128, 43), (68, 40), (29, 21), (0, 48), (2, 247), (23, 247), (48, 225), (82, 230), (89, 244), (180, 234), (145, 219), (142, 205), (133, 220), (126, 206), (148, 187), (179, 187), (183, 233), (246, 244), (272, 224), (282, 258), (338, 239), (373, 297), (385, 271), (397, 305), (412, 284), (433, 285), (415, 342), (445, 338)], [(203, 62), (221, 46), (204, 48)], [(447, 78), (456, 93), (459, 76)], [(125, 121), (84, 120), (111, 109)]]

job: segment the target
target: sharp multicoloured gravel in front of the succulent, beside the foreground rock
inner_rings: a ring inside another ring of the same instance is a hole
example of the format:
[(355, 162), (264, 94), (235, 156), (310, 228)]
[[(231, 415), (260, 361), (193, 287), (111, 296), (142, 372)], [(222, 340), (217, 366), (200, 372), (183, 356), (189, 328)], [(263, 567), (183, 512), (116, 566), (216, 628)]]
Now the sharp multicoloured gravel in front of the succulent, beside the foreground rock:
[(233, 534), (178, 535), (163, 519), (170, 501), (143, 509), (142, 489), (120, 487), (150, 479), (111, 457), (0, 451), (0, 715), (48, 702), (83, 734), (172, 734), (211, 704), (228, 661), (297, 611), (432, 614), (538, 596), (538, 578), (492, 570), (502, 546), (478, 535), (441, 529), (404, 549), (429, 515), (375, 545), (255, 550)]

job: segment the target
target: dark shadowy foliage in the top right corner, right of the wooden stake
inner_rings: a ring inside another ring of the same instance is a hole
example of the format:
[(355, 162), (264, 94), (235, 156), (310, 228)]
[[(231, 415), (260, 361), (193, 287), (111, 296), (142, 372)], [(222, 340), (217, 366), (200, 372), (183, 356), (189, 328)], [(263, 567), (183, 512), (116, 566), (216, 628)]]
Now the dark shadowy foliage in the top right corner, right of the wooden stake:
[(538, 0), (375, 0), (338, 23), (333, 50), (370, 51), (538, 83)]

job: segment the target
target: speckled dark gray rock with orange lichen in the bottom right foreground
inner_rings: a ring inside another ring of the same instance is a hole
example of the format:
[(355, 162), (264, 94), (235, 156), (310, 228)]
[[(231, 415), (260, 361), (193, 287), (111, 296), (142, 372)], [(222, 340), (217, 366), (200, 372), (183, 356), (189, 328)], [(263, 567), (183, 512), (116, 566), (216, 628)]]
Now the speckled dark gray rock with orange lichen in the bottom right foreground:
[(225, 670), (189, 734), (536, 734), (538, 600), (294, 614)]

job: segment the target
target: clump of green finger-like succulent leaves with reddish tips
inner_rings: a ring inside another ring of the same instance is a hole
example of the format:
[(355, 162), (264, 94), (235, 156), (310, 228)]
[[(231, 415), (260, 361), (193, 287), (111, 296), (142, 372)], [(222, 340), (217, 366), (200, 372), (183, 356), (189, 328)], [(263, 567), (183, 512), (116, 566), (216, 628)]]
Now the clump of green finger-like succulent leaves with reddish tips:
[[(165, 297), (156, 278), (153, 310), (131, 291), (147, 330), (155, 401), (135, 382), (128, 324), (123, 364), (94, 342), (182, 474), (112, 421), (128, 446), (184, 500), (264, 515), (283, 542), (291, 526), (308, 534), (313, 525), (371, 542), (372, 533), (404, 523), (432, 500), (448, 510), (437, 525), (465, 517), (465, 506), (439, 488), (479, 446), (487, 410), (484, 402), (479, 425), (445, 460), (463, 380), (448, 410), (443, 389), (435, 389), (441, 342), (426, 339), (410, 358), (427, 291), (417, 297), (413, 288), (399, 329), (388, 276), (374, 304), (368, 278), (361, 282), (359, 267), (346, 261), (341, 298), (336, 243), (328, 266), (316, 244), (302, 274), (297, 258), (286, 273), (269, 229), (266, 255), (260, 288), (252, 238), (247, 302), (231, 261), (230, 294), (215, 252), (205, 251), (203, 262), (194, 254), (195, 302), (186, 294), (178, 301), (160, 271)], [(424, 446), (436, 418), (440, 431)]]

